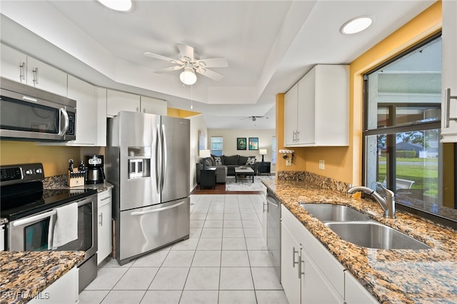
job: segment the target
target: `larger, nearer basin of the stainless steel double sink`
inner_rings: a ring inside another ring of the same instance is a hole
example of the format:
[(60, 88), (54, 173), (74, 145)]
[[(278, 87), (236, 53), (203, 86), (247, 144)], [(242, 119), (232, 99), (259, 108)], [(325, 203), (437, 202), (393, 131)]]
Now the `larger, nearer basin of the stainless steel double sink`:
[(428, 245), (376, 221), (332, 222), (325, 223), (325, 225), (343, 240), (362, 247), (413, 250), (430, 248)]

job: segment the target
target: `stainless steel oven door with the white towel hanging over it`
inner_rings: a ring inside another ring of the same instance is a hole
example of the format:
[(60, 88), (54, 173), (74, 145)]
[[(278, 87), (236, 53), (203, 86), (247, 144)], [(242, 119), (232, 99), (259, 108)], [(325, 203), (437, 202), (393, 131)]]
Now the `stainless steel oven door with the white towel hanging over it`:
[[(87, 257), (97, 251), (96, 225), (96, 195), (77, 201), (78, 203), (78, 238), (56, 250), (82, 250)], [(71, 202), (73, 203), (73, 202)], [(42, 213), (20, 218), (8, 224), (7, 248), (9, 251), (44, 251), (52, 248), (49, 243), (49, 233), (54, 232), (56, 211), (49, 210)], [(52, 219), (52, 221), (51, 221)]]

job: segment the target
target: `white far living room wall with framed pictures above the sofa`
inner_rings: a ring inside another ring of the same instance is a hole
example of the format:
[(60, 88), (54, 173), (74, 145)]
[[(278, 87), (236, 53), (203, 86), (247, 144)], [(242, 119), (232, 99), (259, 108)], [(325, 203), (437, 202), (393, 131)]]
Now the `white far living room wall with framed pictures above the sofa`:
[[(224, 138), (224, 151), (226, 156), (241, 155), (241, 156), (256, 156), (257, 161), (262, 160), (262, 156), (258, 154), (258, 150), (236, 150), (236, 138), (246, 137), (248, 143), (249, 137), (258, 137), (258, 148), (266, 149), (267, 154), (264, 156), (264, 161), (271, 161), (271, 139), (276, 136), (276, 130), (231, 130), (231, 129), (208, 129), (208, 148), (211, 143), (211, 136), (219, 136)], [(276, 171), (271, 165), (271, 172)]]

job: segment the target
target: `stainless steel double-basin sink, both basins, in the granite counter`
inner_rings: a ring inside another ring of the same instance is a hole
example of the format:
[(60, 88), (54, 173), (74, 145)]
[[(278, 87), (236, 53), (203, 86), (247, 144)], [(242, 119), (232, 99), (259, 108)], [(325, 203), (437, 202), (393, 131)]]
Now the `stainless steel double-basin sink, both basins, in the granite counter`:
[(429, 249), (430, 246), (383, 225), (353, 208), (333, 204), (300, 204), (341, 239), (366, 248)]

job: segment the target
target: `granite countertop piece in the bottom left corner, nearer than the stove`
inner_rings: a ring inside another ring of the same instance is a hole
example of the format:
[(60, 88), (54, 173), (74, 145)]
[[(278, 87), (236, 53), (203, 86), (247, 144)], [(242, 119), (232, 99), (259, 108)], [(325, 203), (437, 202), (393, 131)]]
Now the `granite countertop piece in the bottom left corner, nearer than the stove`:
[(84, 251), (0, 252), (0, 303), (27, 303), (84, 260)]

